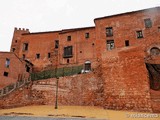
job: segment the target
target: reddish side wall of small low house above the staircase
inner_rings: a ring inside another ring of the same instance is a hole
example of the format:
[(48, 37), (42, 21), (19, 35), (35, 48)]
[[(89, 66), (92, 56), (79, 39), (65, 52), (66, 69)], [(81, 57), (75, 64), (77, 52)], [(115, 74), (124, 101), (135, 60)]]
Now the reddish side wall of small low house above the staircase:
[[(9, 67), (6, 67), (6, 59), (10, 60)], [(8, 77), (4, 76), (8, 73)], [(25, 63), (14, 53), (0, 52), (0, 88), (16, 82), (20, 76), (27, 75)]]

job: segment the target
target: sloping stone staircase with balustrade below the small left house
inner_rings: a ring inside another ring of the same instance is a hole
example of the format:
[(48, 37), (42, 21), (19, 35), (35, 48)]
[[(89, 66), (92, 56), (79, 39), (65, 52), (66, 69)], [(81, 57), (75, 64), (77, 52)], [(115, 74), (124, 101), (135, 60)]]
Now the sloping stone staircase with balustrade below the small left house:
[(18, 80), (16, 83), (12, 83), (12, 84), (0, 89), (0, 98), (12, 93), (16, 89), (21, 88), (26, 84), (29, 84), (30, 82), (31, 82), (31, 77), (29, 77), (29, 78), (24, 77), (23, 79)]

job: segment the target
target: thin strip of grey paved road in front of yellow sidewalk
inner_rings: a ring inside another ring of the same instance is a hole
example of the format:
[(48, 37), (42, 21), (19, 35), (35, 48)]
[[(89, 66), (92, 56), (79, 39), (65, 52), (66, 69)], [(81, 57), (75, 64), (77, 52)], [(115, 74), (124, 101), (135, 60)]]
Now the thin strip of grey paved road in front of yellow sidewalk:
[(20, 117), (20, 116), (0, 116), (0, 120), (98, 120), (88, 118), (47, 118), (47, 117)]

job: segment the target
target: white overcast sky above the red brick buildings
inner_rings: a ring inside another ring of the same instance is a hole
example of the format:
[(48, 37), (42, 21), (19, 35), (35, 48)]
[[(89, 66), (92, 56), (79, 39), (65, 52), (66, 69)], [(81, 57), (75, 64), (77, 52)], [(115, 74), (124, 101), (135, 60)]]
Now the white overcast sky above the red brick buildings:
[(9, 51), (14, 27), (30, 32), (94, 25), (94, 18), (160, 6), (160, 0), (0, 0), (0, 51)]

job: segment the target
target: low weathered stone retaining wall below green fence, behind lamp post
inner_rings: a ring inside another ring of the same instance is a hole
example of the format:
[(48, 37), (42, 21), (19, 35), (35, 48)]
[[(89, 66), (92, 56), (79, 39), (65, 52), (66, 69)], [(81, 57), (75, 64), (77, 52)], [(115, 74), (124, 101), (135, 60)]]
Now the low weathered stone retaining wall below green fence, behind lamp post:
[[(0, 98), (0, 106), (54, 105), (56, 80), (35, 81)], [(103, 84), (93, 73), (61, 77), (58, 86), (59, 105), (103, 105)]]

